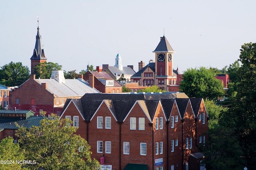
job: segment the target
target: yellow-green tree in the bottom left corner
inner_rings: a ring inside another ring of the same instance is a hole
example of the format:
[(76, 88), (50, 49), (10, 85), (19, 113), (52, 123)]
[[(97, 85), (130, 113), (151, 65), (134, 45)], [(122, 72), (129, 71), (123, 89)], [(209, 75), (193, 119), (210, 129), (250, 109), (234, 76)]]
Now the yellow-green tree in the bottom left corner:
[[(22, 164), (17, 164), (16, 160), (25, 160), (23, 151), (18, 143), (13, 143), (12, 137), (2, 139), (0, 143), (0, 160), (9, 161), (9, 164), (0, 164), (0, 170), (20, 170)], [(10, 162), (11, 161), (11, 162)], [(6, 162), (7, 163), (7, 162)]]

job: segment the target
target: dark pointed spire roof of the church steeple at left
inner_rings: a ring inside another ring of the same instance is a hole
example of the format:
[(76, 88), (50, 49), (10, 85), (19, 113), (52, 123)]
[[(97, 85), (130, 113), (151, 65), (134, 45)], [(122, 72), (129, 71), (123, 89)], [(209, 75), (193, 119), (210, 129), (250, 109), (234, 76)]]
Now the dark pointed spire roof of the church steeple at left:
[(30, 60), (47, 60), (44, 56), (44, 49), (42, 47), (41, 35), (39, 33), (39, 27), (37, 27), (37, 35), (36, 35), (36, 45), (34, 49), (34, 53)]

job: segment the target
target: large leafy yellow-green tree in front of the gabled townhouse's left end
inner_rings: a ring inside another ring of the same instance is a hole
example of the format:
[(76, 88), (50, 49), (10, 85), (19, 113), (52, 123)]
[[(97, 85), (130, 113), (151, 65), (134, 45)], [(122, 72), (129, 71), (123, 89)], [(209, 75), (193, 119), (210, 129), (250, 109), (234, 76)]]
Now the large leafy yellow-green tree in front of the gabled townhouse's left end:
[[(41, 112), (45, 115), (46, 112)], [(77, 128), (70, 126), (69, 119), (59, 119), (52, 114), (40, 121), (40, 126), (26, 129), (19, 127), (17, 136), (27, 160), (36, 160), (28, 168), (38, 170), (91, 170), (100, 168), (87, 141), (75, 135)], [(85, 159), (85, 160), (84, 160)]]

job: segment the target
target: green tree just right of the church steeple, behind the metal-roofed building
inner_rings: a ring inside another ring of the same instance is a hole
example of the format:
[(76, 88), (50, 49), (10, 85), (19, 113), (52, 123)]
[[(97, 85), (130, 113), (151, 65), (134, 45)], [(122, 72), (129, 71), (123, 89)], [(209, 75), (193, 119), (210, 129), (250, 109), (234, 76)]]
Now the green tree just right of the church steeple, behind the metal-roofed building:
[(62, 66), (58, 63), (52, 63), (52, 62), (44, 62), (39, 63), (34, 67), (34, 71), (36, 74), (36, 78), (50, 78), (52, 75), (52, 70), (61, 70)]

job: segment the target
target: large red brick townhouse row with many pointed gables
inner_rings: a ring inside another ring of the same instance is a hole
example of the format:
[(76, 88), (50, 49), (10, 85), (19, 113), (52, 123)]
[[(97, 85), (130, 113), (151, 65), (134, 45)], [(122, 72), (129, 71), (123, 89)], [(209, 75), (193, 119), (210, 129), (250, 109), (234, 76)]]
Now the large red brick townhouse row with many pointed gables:
[(60, 118), (73, 121), (102, 167), (200, 169), (203, 155), (197, 147), (208, 129), (202, 98), (184, 93), (85, 94), (67, 100)]

